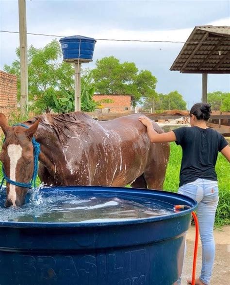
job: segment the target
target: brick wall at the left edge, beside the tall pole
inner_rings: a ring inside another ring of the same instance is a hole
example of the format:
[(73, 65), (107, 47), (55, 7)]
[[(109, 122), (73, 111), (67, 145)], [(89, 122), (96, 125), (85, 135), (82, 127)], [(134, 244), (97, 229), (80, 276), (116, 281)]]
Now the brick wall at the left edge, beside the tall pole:
[(17, 110), (17, 77), (0, 71), (0, 113), (9, 118)]

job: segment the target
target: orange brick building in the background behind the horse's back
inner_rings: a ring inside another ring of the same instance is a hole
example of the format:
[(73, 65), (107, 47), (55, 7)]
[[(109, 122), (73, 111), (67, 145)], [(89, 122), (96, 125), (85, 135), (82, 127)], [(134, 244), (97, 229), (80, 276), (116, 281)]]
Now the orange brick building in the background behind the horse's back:
[(108, 108), (110, 113), (130, 113), (131, 96), (130, 95), (94, 95), (95, 101), (111, 99), (113, 103), (102, 103), (104, 108)]

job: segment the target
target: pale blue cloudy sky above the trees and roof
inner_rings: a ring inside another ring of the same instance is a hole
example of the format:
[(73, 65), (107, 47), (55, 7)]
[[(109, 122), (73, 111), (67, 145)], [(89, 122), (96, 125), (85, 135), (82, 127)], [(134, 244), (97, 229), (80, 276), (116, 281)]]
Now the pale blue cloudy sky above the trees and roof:
[[(230, 26), (230, 0), (26, 0), (27, 32), (57, 36), (186, 41), (197, 25)], [(19, 31), (18, 1), (0, 0), (0, 30)], [(42, 48), (55, 37), (28, 35), (28, 46)], [(59, 38), (58, 38), (59, 39)], [(0, 32), (0, 70), (16, 59), (19, 35)], [(178, 90), (190, 108), (201, 99), (201, 74), (169, 71), (181, 43), (98, 40), (94, 61), (114, 55), (156, 76), (156, 91)], [(230, 92), (230, 75), (209, 74), (208, 92)]]

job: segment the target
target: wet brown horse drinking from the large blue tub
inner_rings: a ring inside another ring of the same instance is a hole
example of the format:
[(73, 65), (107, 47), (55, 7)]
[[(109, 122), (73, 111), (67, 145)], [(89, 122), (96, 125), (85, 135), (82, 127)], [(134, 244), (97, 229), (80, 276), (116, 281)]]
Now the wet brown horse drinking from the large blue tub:
[[(9, 126), (0, 160), (11, 180), (27, 183), (33, 175), (33, 135), (40, 143), (39, 178), (48, 185), (109, 185), (162, 189), (169, 157), (167, 143), (154, 144), (133, 114), (98, 122), (81, 112), (46, 114)], [(162, 129), (153, 122), (154, 129)], [(27, 188), (7, 183), (6, 206), (24, 203)]]

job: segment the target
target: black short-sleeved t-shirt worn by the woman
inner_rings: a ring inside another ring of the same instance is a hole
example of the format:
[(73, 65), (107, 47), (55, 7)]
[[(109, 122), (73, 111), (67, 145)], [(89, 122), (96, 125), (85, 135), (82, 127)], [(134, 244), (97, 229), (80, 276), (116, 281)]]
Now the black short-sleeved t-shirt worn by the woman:
[(173, 130), (182, 147), (180, 186), (197, 178), (217, 181), (215, 163), (218, 151), (228, 142), (212, 128), (180, 127)]

